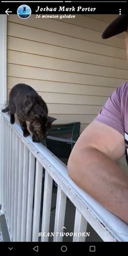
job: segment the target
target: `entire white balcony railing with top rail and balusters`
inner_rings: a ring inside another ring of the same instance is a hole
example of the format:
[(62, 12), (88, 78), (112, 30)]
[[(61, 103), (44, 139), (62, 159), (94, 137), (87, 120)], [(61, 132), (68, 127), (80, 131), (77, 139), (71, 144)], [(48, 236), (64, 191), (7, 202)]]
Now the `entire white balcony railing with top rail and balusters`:
[[(86, 232), (87, 222), (104, 241), (128, 241), (128, 226), (78, 188), (65, 164), (42, 144), (33, 143), (31, 136), (24, 138), (20, 126), (11, 125), (8, 114), (2, 113), (1, 213), (11, 241), (39, 241), (39, 232), (49, 232), (53, 179), (57, 183), (53, 241), (63, 239), (66, 197), (76, 207), (73, 241), (85, 241), (85, 236), (74, 234)], [(48, 236), (41, 236), (41, 241), (48, 241)]]

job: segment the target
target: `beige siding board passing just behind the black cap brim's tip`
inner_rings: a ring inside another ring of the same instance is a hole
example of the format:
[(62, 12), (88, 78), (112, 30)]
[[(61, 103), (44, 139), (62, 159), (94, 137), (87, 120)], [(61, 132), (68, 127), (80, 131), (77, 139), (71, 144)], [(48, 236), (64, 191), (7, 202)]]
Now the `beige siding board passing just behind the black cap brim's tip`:
[(22, 20), (17, 15), (9, 15), (8, 21), (18, 23), (18, 24), (24, 24), (24, 25), (38, 28), (38, 29), (40, 28), (41, 30), (50, 31), (50, 33), (53, 32), (53, 33), (67, 35), (67, 36), (71, 36), (71, 37), (75, 37), (83, 40), (107, 44), (114, 47), (116, 46), (119, 48), (125, 48), (125, 42), (121, 38), (118, 38), (117, 40), (115, 37), (112, 37), (111, 39), (107, 40), (107, 42), (105, 42), (101, 38), (101, 33), (98, 31), (94, 31), (94, 30), (92, 31), (91, 29), (86, 29), (82, 27), (79, 27), (79, 29), (77, 27), (77, 30), (76, 30), (76, 26), (73, 24), (59, 22), (54, 19), (51, 20), (50, 18), (49, 19), (44, 18), (42, 20), (42, 18), (36, 19), (35, 15), (31, 15), (29, 19)]

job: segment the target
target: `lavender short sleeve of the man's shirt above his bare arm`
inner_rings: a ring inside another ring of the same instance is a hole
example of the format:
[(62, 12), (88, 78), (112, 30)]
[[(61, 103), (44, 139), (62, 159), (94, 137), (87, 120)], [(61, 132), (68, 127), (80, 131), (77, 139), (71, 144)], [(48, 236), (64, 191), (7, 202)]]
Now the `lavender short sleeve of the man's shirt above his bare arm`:
[(111, 126), (124, 136), (124, 120), (121, 114), (123, 89), (124, 85), (117, 87), (117, 89), (111, 93), (105, 105), (94, 120)]

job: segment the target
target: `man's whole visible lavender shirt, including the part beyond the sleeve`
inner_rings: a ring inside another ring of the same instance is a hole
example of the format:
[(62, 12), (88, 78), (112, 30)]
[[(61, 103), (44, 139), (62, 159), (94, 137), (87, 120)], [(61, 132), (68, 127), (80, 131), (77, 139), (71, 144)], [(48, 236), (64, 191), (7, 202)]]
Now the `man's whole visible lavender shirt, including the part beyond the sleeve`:
[(109, 125), (120, 132), (124, 136), (126, 152), (128, 153), (128, 82), (117, 87), (111, 93), (94, 120)]

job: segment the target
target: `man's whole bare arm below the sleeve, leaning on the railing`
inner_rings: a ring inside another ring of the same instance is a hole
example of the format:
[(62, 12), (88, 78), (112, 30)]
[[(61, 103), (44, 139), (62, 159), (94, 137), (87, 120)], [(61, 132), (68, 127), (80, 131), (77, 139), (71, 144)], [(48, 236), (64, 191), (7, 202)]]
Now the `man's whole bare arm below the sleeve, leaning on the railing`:
[(124, 137), (93, 121), (76, 142), (68, 174), (106, 209), (128, 223), (128, 175), (116, 161), (125, 153)]

